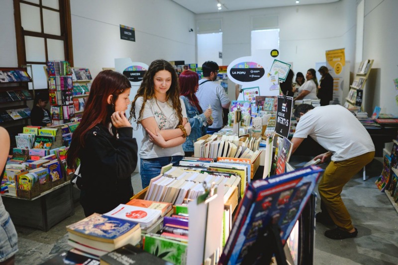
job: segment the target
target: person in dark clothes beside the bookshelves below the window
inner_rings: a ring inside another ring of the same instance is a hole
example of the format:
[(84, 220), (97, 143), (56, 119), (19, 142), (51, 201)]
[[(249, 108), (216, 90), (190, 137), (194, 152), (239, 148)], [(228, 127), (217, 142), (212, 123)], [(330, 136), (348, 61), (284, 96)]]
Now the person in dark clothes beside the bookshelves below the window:
[(48, 92), (36, 92), (34, 106), (30, 112), (30, 123), (32, 126), (51, 126), (51, 115), (46, 109), (48, 104)]

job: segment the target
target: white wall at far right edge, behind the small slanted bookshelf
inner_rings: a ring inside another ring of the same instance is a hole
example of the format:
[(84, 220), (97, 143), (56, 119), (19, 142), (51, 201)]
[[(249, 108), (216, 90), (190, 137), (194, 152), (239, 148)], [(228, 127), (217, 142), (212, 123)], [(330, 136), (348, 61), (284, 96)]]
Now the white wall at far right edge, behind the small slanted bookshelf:
[(382, 113), (394, 115), (398, 115), (393, 82), (398, 78), (397, 13), (397, 0), (365, 0), (363, 58), (375, 60), (366, 89), (369, 84), (375, 89), (372, 108), (380, 106)]

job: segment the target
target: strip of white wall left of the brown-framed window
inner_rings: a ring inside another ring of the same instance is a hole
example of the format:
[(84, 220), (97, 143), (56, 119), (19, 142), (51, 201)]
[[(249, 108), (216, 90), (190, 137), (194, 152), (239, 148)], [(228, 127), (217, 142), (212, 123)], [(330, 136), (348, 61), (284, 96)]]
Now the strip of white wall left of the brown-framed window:
[(18, 67), (16, 56), (14, 5), (2, 0), (0, 8), (0, 67)]

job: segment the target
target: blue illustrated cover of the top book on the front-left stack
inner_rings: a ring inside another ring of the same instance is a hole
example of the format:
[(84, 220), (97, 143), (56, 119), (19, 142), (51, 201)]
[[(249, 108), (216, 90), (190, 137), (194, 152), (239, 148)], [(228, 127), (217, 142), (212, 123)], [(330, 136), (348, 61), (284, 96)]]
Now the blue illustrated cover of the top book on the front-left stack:
[(97, 213), (66, 227), (70, 233), (86, 238), (101, 238), (105, 241), (113, 241), (132, 229), (138, 228), (138, 223)]

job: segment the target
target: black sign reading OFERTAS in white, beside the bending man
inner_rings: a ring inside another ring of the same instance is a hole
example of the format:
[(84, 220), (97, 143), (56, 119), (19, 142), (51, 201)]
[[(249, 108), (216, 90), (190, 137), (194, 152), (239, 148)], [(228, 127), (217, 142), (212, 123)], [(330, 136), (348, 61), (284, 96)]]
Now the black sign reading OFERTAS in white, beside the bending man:
[(292, 117), (293, 98), (278, 96), (277, 120), (275, 133), (288, 137), (290, 132), (290, 120)]

